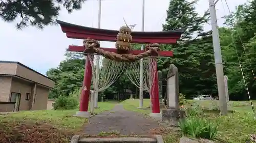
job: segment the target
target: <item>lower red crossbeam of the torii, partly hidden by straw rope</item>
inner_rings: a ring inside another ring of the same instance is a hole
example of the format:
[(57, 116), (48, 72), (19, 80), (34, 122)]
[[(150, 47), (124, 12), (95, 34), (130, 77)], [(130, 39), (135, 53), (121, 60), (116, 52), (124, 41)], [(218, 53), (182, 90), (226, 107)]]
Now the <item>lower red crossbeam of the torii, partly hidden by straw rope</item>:
[[(109, 51), (109, 52), (115, 52), (117, 53), (117, 49), (116, 48), (101, 48), (105, 51)], [(73, 46), (70, 45), (68, 51), (76, 51), (76, 52), (83, 52), (84, 51), (84, 47), (83, 46)], [(131, 53), (131, 54), (139, 54), (144, 52), (143, 50), (130, 50), (129, 52), (127, 52), (127, 54)], [(159, 56), (164, 56), (164, 57), (170, 57), (173, 56), (173, 51), (158, 51)]]

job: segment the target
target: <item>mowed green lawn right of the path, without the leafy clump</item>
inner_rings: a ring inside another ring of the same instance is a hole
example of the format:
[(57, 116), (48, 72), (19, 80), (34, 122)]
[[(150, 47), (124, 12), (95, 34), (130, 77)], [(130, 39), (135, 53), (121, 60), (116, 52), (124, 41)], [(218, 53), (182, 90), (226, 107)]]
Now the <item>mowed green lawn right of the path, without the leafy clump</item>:
[[(206, 100), (186, 100), (187, 106), (200, 106), (201, 108), (215, 109), (218, 107), (218, 101)], [(256, 104), (256, 101), (253, 101)], [(127, 110), (141, 112), (145, 115), (151, 112), (151, 109), (138, 109), (139, 99), (128, 99), (122, 102)], [(149, 107), (150, 99), (144, 99), (144, 107)], [(185, 105), (185, 106), (186, 106)], [(218, 137), (219, 142), (240, 143), (245, 142), (250, 134), (256, 133), (256, 120), (251, 109), (249, 101), (229, 101), (228, 110), (234, 110), (234, 113), (229, 113), (228, 116), (219, 116), (214, 113), (205, 113), (204, 118), (212, 123), (219, 124)], [(173, 133), (164, 136), (165, 142), (179, 142), (180, 136), (174, 136)]]

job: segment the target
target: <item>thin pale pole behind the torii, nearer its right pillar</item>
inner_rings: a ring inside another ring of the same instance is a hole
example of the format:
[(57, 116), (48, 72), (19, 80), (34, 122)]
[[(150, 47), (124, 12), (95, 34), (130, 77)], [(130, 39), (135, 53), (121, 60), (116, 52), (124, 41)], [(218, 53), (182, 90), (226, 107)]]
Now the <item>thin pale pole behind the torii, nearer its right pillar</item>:
[[(141, 31), (144, 32), (144, 18), (145, 17), (145, 0), (142, 0), (142, 22)], [(141, 50), (144, 49), (143, 44), (140, 47)], [(140, 60), (140, 108), (143, 108), (143, 58)]]

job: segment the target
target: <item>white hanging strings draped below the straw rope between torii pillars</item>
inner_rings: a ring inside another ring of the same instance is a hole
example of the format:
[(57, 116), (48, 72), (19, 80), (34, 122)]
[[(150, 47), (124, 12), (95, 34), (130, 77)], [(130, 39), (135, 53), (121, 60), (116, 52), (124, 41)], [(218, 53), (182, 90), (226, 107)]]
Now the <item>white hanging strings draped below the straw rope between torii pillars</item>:
[[(129, 80), (140, 88), (140, 61), (126, 63), (117, 62), (110, 59), (105, 59), (103, 56), (99, 56), (99, 76), (98, 76), (98, 88), (96, 86), (96, 56), (94, 54), (87, 55), (92, 66), (92, 83), (93, 90), (91, 92), (102, 92), (109, 88), (122, 73), (129, 78)], [(152, 88), (155, 73), (156, 73), (156, 59), (144, 58), (143, 59), (143, 85), (142, 90), (150, 93)]]

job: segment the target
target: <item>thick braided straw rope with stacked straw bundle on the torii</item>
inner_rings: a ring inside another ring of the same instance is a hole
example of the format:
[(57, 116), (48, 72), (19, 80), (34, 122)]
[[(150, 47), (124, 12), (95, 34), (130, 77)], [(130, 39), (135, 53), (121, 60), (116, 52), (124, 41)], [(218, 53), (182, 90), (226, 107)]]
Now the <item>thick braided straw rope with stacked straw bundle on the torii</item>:
[[(131, 28), (122, 26), (119, 30), (119, 33), (117, 34), (117, 42), (116, 42), (116, 48), (118, 50), (122, 50), (127, 53), (127, 51), (131, 50), (132, 45), (132, 36), (130, 35), (132, 33)], [(97, 53), (99, 55), (104, 56), (106, 59), (118, 61), (118, 62), (135, 62), (142, 58), (145, 58), (147, 56), (158, 56), (158, 51), (160, 50), (159, 44), (148, 44), (146, 45), (145, 49), (146, 51), (139, 53), (138, 55), (134, 54), (119, 54), (115, 52), (109, 52), (105, 51), (103, 49), (100, 49), (100, 44), (96, 40), (93, 39), (84, 39), (83, 40), (83, 46), (84, 46), (84, 54), (86, 53)]]

